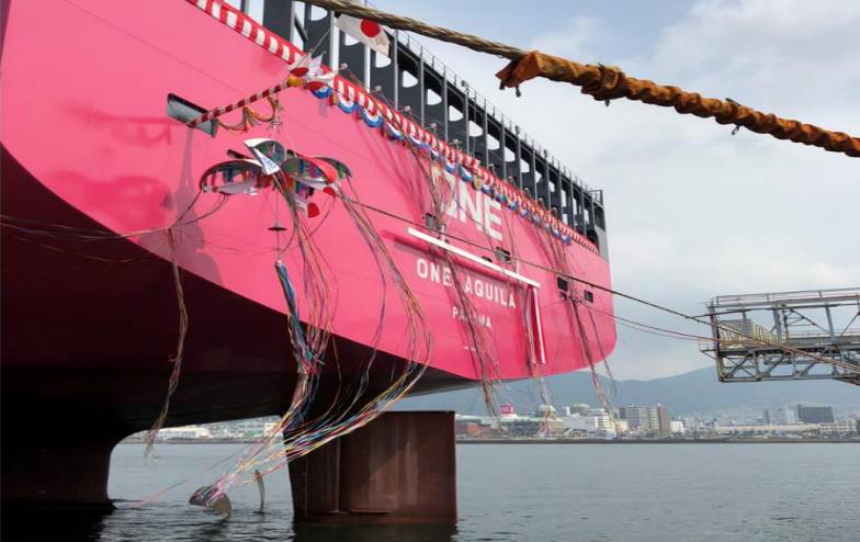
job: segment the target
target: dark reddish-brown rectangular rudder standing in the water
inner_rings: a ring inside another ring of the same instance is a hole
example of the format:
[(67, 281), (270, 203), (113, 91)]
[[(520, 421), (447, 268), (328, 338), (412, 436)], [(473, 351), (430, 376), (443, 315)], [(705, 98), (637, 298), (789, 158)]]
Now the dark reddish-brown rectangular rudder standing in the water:
[(297, 522), (456, 521), (454, 413), (386, 413), (290, 464)]

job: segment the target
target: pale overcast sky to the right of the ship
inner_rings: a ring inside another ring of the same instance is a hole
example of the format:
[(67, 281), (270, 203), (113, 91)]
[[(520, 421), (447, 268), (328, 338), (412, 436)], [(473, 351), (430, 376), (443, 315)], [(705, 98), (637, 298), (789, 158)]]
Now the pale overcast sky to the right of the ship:
[[(382, 9), (860, 135), (860, 1), (375, 0)], [(647, 5), (646, 5), (647, 4)], [(860, 285), (860, 159), (674, 110), (533, 80), (420, 41), (592, 188), (604, 190), (614, 287), (680, 310), (721, 294)], [(630, 303), (620, 316), (708, 334)], [(710, 363), (697, 345), (623, 327), (615, 375)]]

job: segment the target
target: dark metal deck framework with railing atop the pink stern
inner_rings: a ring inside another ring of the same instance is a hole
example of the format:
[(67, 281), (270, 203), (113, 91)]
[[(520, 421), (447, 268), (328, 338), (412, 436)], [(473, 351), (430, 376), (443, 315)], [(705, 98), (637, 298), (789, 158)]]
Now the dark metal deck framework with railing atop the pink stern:
[[(314, 48), (324, 64), (340, 68), (441, 140), (517, 184), (608, 256), (603, 192), (582, 182), (417, 39), (391, 33), (391, 55), (381, 57), (361, 43), (348, 43), (325, 10), (294, 0), (241, 5), (270, 31), (301, 48)], [(407, 76), (416, 81), (405, 84)]]

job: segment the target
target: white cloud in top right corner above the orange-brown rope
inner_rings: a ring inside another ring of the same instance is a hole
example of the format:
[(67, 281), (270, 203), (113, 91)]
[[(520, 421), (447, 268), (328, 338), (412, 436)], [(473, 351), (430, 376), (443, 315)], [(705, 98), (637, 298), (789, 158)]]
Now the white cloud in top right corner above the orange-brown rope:
[[(665, 29), (644, 65), (654, 78), (841, 124), (851, 117), (834, 105), (855, 103), (858, 27), (860, 2), (703, 1)], [(858, 115), (851, 124), (835, 129), (860, 127)]]

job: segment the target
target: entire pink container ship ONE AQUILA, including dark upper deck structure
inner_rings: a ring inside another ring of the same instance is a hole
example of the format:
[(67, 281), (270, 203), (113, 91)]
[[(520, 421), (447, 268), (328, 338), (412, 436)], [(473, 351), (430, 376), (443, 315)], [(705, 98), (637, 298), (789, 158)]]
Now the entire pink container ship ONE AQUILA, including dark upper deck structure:
[(330, 450), (614, 348), (602, 192), (407, 36), (235, 4), (2, 3), (5, 501), (106, 505), (160, 416)]

